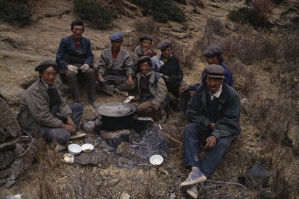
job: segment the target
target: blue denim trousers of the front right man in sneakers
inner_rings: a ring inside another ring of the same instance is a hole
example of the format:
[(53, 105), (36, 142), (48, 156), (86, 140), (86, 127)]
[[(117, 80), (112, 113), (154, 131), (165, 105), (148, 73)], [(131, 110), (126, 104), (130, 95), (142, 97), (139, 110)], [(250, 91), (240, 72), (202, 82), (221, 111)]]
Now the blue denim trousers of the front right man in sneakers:
[[(223, 159), (225, 152), (234, 140), (233, 136), (223, 137), (217, 140), (213, 148), (208, 148), (205, 157), (198, 159), (200, 153), (201, 140), (208, 137), (211, 129), (203, 127), (198, 123), (191, 123), (184, 129), (184, 166), (195, 166), (200, 168), (201, 172), (209, 179), (216, 171), (220, 161)], [(203, 146), (205, 143), (202, 144)]]

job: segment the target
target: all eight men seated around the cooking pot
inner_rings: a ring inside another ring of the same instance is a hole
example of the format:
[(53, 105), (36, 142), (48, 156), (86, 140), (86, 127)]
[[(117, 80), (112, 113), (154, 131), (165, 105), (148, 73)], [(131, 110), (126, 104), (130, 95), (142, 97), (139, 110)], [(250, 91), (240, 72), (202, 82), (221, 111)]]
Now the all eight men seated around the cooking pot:
[[(35, 67), (39, 79), (20, 101), (17, 120), (21, 128), (31, 135), (66, 143), (77, 131), (83, 113), (78, 88), (82, 80), (87, 81), (88, 101), (94, 107), (99, 105), (96, 91), (128, 97), (128, 92), (136, 88), (138, 95), (130, 100), (136, 105), (136, 113), (160, 119), (166, 115), (167, 99), (170, 103), (178, 100), (179, 122), (185, 120), (188, 107), (191, 121), (184, 129), (183, 144), (184, 165), (192, 171), (180, 187), (197, 198), (196, 184), (211, 177), (233, 136), (241, 131), (240, 100), (232, 88), (232, 74), (223, 64), (221, 47), (213, 44), (203, 51), (208, 66), (202, 73), (202, 83), (188, 86), (178, 59), (171, 54), (172, 41), (168, 39), (158, 44), (161, 54), (157, 55), (150, 48), (152, 37), (143, 35), (132, 58), (121, 48), (123, 35), (115, 32), (109, 36), (111, 47), (101, 53), (96, 73), (90, 40), (82, 36), (83, 22), (73, 21), (71, 31), (72, 35), (61, 39), (56, 61), (46, 60)], [(57, 74), (68, 83), (77, 102), (74, 105), (68, 106), (58, 91), (54, 83)], [(208, 151), (201, 161), (197, 154), (202, 139)]]

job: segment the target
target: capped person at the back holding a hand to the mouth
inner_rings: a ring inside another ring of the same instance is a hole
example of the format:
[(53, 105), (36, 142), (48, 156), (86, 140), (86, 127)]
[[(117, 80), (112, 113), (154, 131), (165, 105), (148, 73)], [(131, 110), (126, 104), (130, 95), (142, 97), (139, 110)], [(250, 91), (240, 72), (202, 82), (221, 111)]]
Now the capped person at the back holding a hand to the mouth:
[(150, 46), (152, 44), (152, 36), (150, 36), (149, 34), (142, 35), (139, 38), (139, 41), (141, 44), (135, 48), (133, 54), (135, 74), (140, 72), (140, 69), (137, 66), (137, 60), (139, 60), (143, 56), (153, 57), (157, 55), (157, 53), (154, 50), (150, 49)]

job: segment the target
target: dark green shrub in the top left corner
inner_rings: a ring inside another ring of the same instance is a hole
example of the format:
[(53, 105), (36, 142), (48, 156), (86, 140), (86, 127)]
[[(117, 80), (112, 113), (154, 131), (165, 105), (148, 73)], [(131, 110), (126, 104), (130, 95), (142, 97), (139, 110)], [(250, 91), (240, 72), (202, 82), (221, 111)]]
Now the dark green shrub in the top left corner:
[(0, 0), (0, 19), (20, 26), (30, 25), (32, 11), (24, 4)]

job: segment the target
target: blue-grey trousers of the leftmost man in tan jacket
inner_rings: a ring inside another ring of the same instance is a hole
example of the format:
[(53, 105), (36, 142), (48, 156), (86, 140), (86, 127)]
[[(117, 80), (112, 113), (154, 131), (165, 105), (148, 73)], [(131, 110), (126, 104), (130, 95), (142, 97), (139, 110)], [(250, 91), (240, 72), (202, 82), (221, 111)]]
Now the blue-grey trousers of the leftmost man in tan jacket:
[[(72, 120), (78, 127), (83, 113), (83, 106), (80, 103), (75, 103), (70, 106), (70, 108), (73, 112)], [(46, 140), (56, 140), (58, 143), (63, 144), (70, 140), (71, 133), (65, 128), (49, 128), (41, 126), (39, 129), (39, 136), (46, 138)]]

